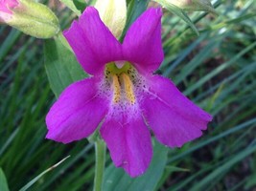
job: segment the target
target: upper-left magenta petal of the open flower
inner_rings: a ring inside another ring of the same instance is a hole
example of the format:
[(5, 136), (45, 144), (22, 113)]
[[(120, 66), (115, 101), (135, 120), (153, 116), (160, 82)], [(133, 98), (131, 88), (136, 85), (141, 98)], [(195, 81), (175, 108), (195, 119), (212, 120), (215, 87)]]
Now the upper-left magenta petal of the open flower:
[(103, 72), (107, 62), (123, 60), (121, 44), (105, 27), (93, 7), (87, 7), (79, 22), (74, 21), (64, 36), (82, 68), (89, 74)]

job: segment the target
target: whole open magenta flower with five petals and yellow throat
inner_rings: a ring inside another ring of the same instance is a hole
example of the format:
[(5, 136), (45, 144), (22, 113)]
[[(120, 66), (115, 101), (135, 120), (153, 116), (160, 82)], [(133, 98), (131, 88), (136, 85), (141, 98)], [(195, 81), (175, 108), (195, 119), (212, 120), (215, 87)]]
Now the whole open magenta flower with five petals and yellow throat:
[(152, 74), (163, 61), (161, 9), (145, 11), (121, 44), (88, 7), (64, 36), (82, 68), (92, 76), (58, 97), (46, 117), (46, 138), (68, 143), (98, 126), (111, 159), (131, 177), (152, 157), (151, 128), (170, 147), (202, 135), (212, 117), (183, 96), (169, 79)]

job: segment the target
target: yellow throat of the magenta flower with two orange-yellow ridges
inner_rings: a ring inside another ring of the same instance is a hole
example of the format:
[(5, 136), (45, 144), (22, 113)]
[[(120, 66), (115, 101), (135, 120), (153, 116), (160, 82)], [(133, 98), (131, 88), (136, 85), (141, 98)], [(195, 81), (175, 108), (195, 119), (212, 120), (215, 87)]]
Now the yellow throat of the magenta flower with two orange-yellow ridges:
[(114, 103), (120, 102), (126, 97), (129, 103), (134, 104), (136, 101), (133, 91), (133, 80), (135, 80), (136, 70), (128, 63), (120, 64), (109, 63), (105, 67), (105, 78), (110, 82), (113, 88)]

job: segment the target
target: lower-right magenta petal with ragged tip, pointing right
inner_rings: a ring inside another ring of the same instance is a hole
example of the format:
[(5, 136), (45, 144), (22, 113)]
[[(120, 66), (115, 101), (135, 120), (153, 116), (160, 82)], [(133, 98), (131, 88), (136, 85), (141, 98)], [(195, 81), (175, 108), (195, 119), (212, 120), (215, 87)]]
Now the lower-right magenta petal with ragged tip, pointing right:
[(170, 147), (200, 137), (212, 117), (183, 96), (171, 80), (157, 75), (148, 80), (150, 89), (141, 107), (155, 137)]

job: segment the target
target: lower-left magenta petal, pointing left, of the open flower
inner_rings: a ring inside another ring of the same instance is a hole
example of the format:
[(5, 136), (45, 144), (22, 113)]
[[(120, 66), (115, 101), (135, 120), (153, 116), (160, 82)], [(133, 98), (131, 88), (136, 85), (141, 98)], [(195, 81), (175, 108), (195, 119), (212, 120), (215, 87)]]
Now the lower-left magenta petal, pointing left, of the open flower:
[(50, 109), (46, 138), (68, 143), (86, 138), (105, 117), (107, 103), (98, 95), (97, 80), (88, 78), (68, 86)]

